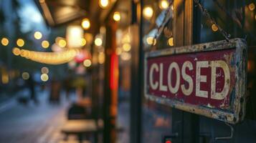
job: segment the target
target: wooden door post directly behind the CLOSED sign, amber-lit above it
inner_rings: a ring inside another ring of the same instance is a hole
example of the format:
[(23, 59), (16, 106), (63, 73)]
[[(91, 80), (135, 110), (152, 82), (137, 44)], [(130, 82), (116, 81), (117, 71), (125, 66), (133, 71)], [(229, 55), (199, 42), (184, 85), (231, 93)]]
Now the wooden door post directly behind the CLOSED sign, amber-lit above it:
[[(174, 46), (193, 44), (194, 24), (193, 0), (174, 1)], [(197, 31), (199, 32), (199, 31)], [(199, 142), (199, 116), (189, 112), (172, 109), (172, 132), (179, 137), (173, 142)]]

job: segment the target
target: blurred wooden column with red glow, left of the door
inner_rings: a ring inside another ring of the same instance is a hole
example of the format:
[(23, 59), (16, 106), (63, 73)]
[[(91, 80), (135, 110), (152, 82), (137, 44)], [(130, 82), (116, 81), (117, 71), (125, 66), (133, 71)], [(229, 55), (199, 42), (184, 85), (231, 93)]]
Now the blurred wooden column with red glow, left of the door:
[[(112, 88), (111, 78), (113, 72), (118, 74), (118, 71), (113, 71), (113, 54), (115, 54), (116, 40), (115, 31), (117, 24), (110, 21), (106, 25), (106, 39), (105, 39), (105, 81), (104, 81), (104, 103), (103, 103), (103, 118), (104, 118), (104, 131), (103, 142), (115, 143), (115, 118), (117, 115), (117, 102), (118, 102), (118, 88)], [(117, 69), (118, 70), (118, 69)], [(117, 73), (116, 73), (117, 72)], [(117, 75), (118, 76), (118, 75)], [(118, 79), (117, 81), (118, 82)]]

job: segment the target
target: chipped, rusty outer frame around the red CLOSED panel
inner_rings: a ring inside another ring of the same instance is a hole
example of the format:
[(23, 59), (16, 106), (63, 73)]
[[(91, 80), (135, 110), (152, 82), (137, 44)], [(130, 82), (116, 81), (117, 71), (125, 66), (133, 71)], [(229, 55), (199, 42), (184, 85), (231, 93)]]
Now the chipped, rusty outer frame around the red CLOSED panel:
[[(193, 104), (188, 104), (184, 102), (179, 102), (176, 100), (166, 99), (163, 97), (156, 97), (151, 94), (147, 94), (146, 88), (146, 69), (147, 69), (147, 60), (148, 57), (158, 57), (158, 56), (168, 56), (176, 54), (189, 54), (202, 51), (217, 51), (223, 49), (232, 49), (235, 48), (236, 53), (236, 62), (237, 68), (235, 71), (235, 99), (232, 106), (232, 112), (222, 111), (220, 109), (211, 109), (207, 107), (200, 107)], [(245, 117), (245, 96), (246, 96), (246, 79), (247, 79), (247, 44), (245, 44), (244, 39), (230, 39), (229, 42), (214, 41), (204, 44), (194, 44), (191, 46), (180, 46), (170, 49), (161, 49), (157, 51), (148, 51), (144, 56), (144, 95), (146, 99), (151, 101), (158, 102), (161, 104), (169, 105), (176, 109), (181, 109), (185, 112), (191, 112), (195, 114), (200, 114), (205, 117), (210, 117), (213, 119), (218, 119), (222, 122), (228, 122), (230, 124), (237, 124), (242, 122)]]

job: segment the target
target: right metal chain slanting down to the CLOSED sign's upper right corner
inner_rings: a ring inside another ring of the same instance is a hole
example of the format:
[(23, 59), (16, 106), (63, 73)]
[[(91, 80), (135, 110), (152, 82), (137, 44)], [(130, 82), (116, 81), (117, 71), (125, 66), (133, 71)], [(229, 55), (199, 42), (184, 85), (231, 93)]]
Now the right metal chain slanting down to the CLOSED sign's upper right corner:
[(202, 6), (202, 4), (199, 3), (199, 0), (194, 0), (194, 3), (195, 3), (197, 6), (199, 6), (199, 9), (201, 10), (202, 14), (207, 17), (207, 19), (211, 22), (211, 24), (214, 24), (215, 26), (217, 26), (217, 28), (218, 28), (219, 31), (222, 33), (222, 35), (224, 36), (224, 38), (225, 38), (227, 41), (229, 41), (229, 38), (231, 37), (231, 35), (228, 34), (227, 31), (224, 31), (224, 29), (222, 29), (222, 27), (217, 24), (217, 22), (212, 18), (212, 16), (209, 14), (209, 12), (207, 11), (207, 9), (205, 9), (204, 6)]

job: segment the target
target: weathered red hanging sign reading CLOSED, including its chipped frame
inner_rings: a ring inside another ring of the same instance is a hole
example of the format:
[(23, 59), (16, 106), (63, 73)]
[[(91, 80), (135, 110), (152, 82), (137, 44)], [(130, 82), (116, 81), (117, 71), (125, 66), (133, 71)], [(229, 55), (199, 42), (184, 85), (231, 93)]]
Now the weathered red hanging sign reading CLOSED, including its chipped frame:
[(145, 94), (235, 124), (245, 115), (246, 70), (242, 39), (151, 51), (145, 55)]

